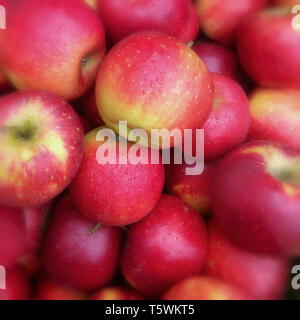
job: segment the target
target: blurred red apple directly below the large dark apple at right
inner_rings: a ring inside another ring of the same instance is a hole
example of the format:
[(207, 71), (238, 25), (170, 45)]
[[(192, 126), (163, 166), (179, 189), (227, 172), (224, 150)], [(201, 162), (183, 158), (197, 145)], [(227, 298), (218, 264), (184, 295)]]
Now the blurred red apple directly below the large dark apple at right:
[(284, 296), (289, 262), (288, 259), (242, 250), (211, 220), (204, 273), (240, 288), (255, 300), (275, 300)]

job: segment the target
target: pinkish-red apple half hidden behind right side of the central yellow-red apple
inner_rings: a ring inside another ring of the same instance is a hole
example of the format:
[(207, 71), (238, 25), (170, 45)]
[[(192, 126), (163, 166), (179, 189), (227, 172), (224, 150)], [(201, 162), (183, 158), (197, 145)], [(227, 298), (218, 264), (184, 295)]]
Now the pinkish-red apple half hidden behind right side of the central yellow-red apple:
[[(213, 110), (205, 122), (204, 157), (211, 161), (220, 158), (230, 149), (244, 142), (251, 123), (249, 100), (243, 88), (235, 81), (213, 74), (215, 99)], [(196, 150), (193, 132), (192, 150)], [(191, 156), (190, 151), (186, 152)]]

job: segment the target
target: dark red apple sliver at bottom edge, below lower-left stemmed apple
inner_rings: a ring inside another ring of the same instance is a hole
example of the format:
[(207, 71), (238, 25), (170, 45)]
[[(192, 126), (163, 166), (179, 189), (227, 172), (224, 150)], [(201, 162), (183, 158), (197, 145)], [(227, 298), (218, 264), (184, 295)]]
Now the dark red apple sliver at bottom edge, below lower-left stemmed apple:
[(84, 300), (85, 298), (83, 292), (48, 278), (39, 281), (35, 293), (35, 300)]

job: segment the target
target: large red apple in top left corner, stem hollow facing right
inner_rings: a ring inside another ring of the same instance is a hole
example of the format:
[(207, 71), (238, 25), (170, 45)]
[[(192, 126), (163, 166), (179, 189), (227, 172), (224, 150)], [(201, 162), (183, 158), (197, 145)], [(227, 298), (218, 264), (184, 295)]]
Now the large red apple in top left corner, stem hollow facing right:
[(72, 100), (97, 76), (105, 33), (97, 13), (81, 1), (26, 0), (8, 16), (0, 45), (2, 65), (18, 89)]

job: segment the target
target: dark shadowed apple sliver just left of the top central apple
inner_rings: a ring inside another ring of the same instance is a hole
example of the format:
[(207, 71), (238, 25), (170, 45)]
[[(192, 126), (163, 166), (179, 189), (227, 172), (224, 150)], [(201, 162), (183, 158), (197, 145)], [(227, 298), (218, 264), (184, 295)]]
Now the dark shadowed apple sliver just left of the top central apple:
[(80, 102), (83, 114), (91, 124), (98, 127), (104, 125), (104, 122), (99, 114), (95, 95), (95, 88), (92, 88), (81, 98)]

